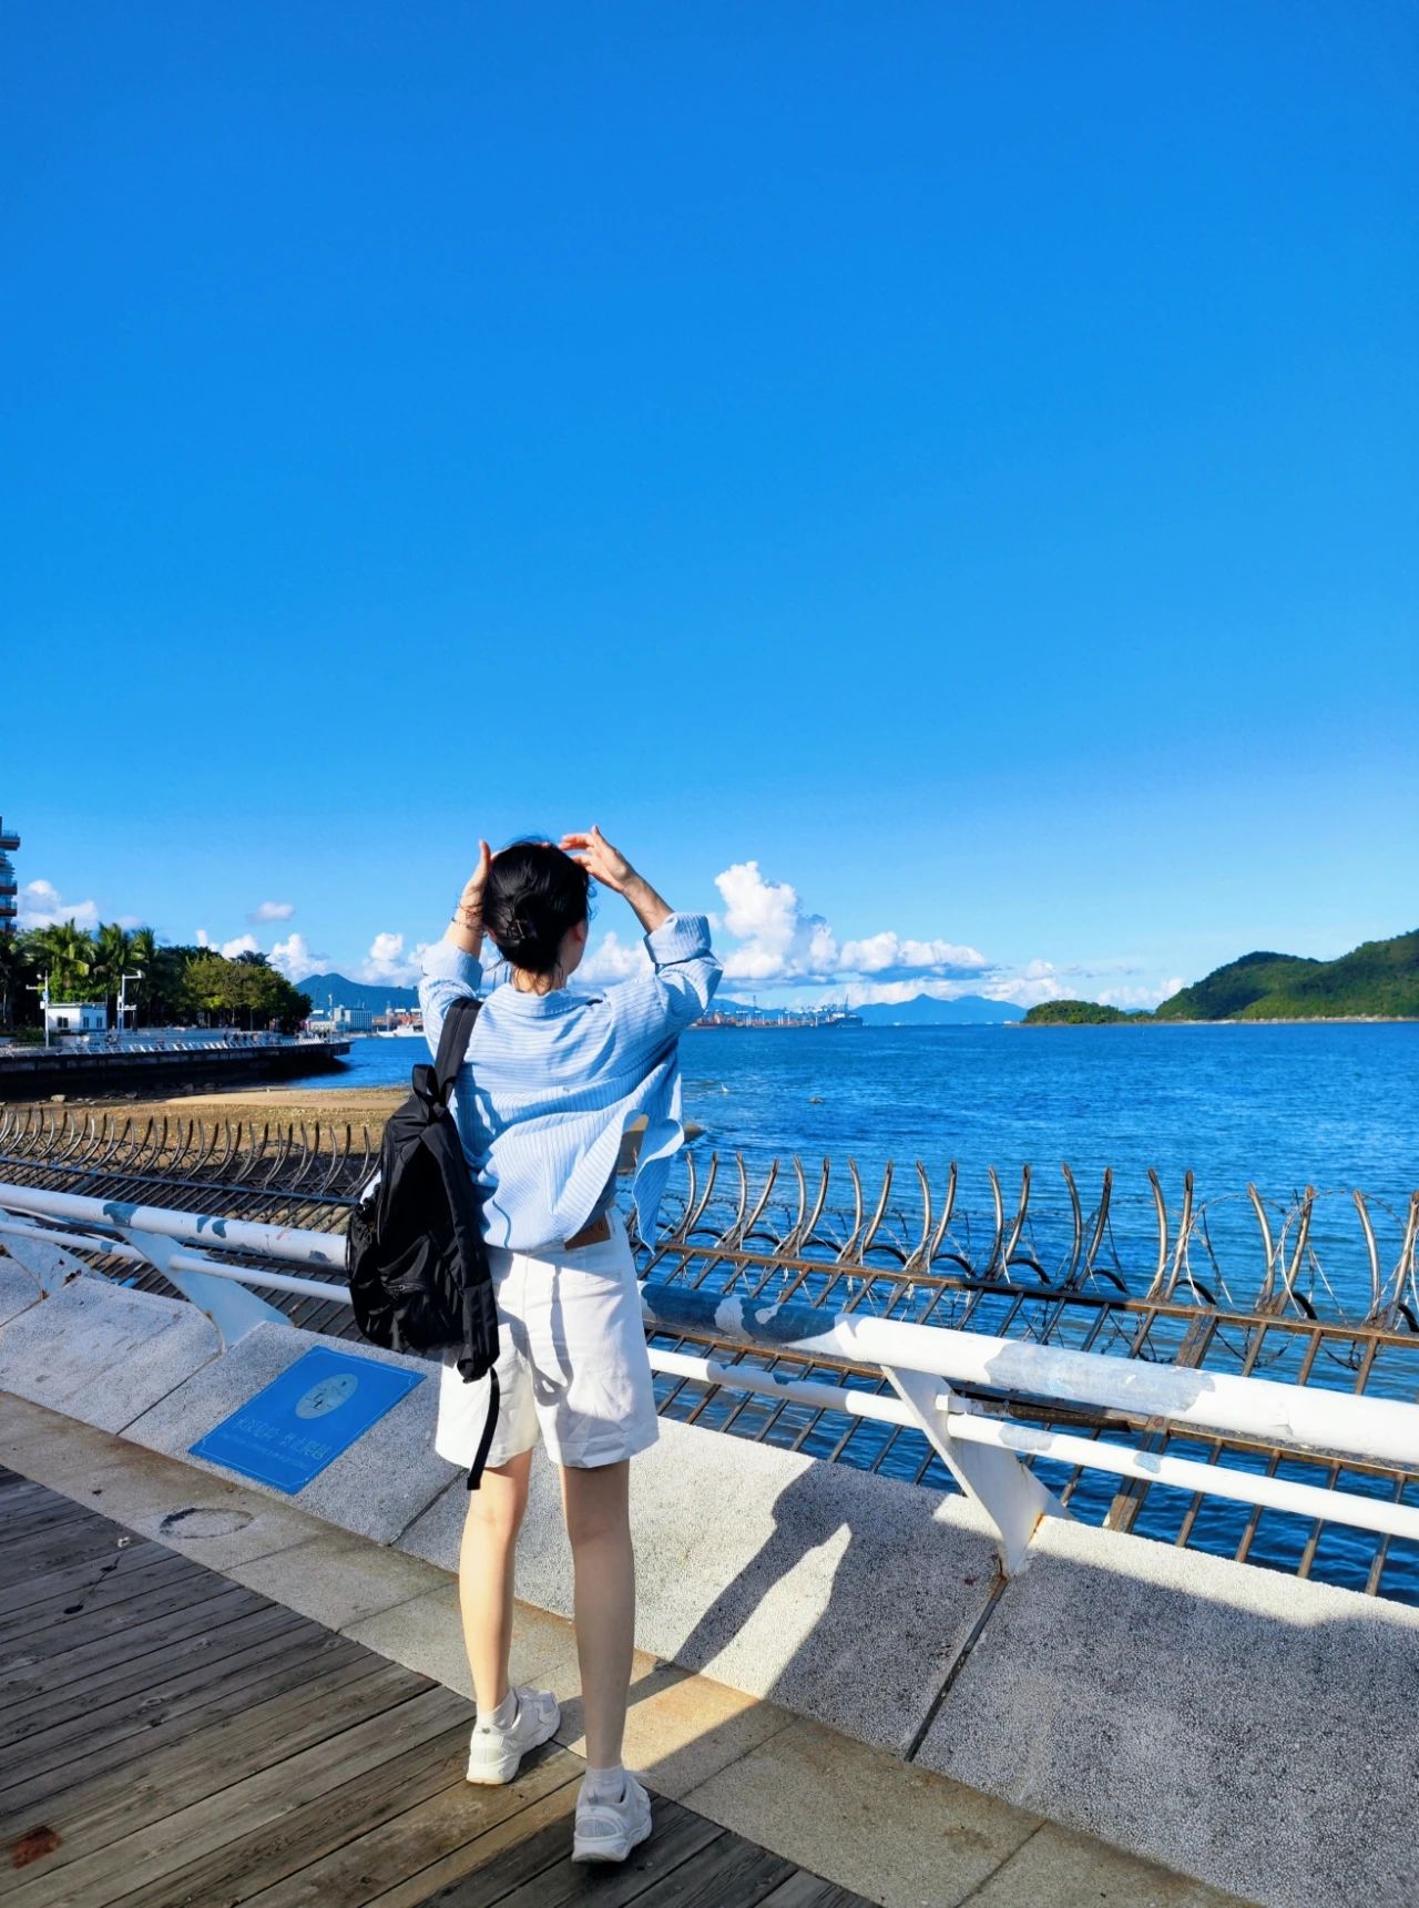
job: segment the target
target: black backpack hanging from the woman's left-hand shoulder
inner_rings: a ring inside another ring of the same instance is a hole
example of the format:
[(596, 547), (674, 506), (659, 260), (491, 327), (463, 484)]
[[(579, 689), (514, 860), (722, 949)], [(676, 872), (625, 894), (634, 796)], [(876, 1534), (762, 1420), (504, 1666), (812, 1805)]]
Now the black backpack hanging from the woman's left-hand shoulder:
[(414, 1091), (389, 1116), (380, 1172), (360, 1194), (345, 1234), (355, 1322), (385, 1351), (458, 1347), (465, 1381), (490, 1376), (488, 1421), (467, 1488), (477, 1490), (498, 1425), (498, 1307), (483, 1244), (473, 1175), (448, 1107), (467, 1053), (477, 1000), (444, 1017), (439, 1057), (414, 1068)]

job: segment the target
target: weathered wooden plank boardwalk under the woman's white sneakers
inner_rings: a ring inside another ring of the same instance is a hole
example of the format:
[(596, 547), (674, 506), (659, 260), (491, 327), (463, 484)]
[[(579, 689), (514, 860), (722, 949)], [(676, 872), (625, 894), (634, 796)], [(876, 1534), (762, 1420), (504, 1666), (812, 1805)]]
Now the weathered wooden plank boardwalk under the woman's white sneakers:
[(582, 1763), (463, 1782), (469, 1704), (0, 1469), (0, 1898), (13, 1908), (849, 1908), (656, 1799), (568, 1860)]

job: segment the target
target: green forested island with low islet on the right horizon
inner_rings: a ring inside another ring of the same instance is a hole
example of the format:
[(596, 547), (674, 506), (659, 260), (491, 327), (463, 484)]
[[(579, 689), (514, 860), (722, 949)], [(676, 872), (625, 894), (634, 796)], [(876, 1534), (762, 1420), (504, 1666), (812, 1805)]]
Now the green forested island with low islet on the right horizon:
[(1093, 1000), (1045, 1000), (1024, 1027), (1104, 1027), (1120, 1021), (1419, 1021), (1419, 929), (1366, 941), (1339, 960), (1244, 954), (1184, 986), (1152, 1013)]

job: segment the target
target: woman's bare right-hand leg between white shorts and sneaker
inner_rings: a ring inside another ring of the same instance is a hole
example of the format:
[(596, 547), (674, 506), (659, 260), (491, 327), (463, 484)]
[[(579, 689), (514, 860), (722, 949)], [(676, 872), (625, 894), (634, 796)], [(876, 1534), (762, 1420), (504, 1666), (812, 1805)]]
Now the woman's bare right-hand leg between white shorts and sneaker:
[(629, 1460), (593, 1471), (563, 1465), (563, 1507), (576, 1570), (576, 1658), (582, 1666), (586, 1761), (614, 1769), (622, 1759), (626, 1692), (635, 1633)]

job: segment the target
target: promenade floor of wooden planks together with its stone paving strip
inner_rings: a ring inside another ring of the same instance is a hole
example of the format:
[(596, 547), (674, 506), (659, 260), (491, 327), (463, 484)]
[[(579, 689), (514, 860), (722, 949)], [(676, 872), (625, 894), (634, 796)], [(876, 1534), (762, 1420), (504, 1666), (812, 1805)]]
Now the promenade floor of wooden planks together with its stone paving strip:
[(452, 1582), (290, 1505), (0, 1395), (0, 1898), (15, 1908), (1224, 1908), (1232, 1897), (637, 1658), (656, 1834), (568, 1860), (568, 1626), (515, 1675), (566, 1696), (505, 1790), (462, 1780)]

